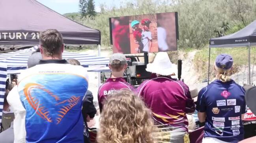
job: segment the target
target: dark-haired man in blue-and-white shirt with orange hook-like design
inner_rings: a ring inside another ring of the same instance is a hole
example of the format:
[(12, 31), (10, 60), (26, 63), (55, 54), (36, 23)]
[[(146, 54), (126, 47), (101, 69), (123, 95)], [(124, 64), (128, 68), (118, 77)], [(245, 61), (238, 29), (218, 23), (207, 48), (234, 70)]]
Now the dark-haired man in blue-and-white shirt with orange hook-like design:
[[(18, 117), (23, 115), (16, 122), (19, 125), (14, 122), (15, 143), (82, 143), (81, 109), (88, 89), (87, 71), (62, 59), (64, 43), (56, 29), (41, 32), (39, 43), (39, 65), (21, 72), (19, 85), (9, 93), (12, 108)], [(15, 98), (17, 95), (19, 98)], [(18, 130), (23, 127), (26, 130)]]

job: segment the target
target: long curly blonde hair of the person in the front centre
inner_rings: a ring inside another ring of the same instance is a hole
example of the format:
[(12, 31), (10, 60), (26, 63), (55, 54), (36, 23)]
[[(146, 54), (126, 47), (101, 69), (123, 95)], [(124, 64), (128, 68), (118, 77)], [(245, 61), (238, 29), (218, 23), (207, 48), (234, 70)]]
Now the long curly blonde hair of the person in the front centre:
[(154, 143), (151, 111), (133, 92), (108, 96), (100, 118), (98, 143)]

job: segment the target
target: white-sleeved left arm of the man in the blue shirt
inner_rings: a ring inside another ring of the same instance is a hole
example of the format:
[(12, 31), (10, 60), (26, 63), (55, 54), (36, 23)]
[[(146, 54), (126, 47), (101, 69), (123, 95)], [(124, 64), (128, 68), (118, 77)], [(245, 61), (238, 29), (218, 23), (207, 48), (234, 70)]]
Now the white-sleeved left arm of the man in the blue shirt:
[(15, 115), (13, 120), (14, 143), (26, 143), (26, 110), (21, 103), (17, 85), (9, 92), (7, 101)]

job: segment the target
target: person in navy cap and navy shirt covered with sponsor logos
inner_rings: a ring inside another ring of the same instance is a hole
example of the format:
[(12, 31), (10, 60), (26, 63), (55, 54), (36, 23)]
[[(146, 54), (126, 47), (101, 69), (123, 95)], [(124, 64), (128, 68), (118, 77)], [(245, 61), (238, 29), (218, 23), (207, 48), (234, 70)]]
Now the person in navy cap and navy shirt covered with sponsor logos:
[(206, 122), (203, 143), (237, 143), (244, 138), (245, 89), (230, 78), (232, 66), (230, 55), (218, 55), (216, 80), (198, 94), (198, 119)]

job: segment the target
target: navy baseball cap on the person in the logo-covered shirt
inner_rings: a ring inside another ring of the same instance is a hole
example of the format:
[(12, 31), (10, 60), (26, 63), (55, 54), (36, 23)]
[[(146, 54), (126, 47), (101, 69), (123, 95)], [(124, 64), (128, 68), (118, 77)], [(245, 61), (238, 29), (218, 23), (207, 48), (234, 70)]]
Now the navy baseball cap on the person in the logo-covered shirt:
[(215, 60), (215, 65), (220, 69), (230, 69), (233, 65), (233, 58), (228, 54), (219, 54)]

